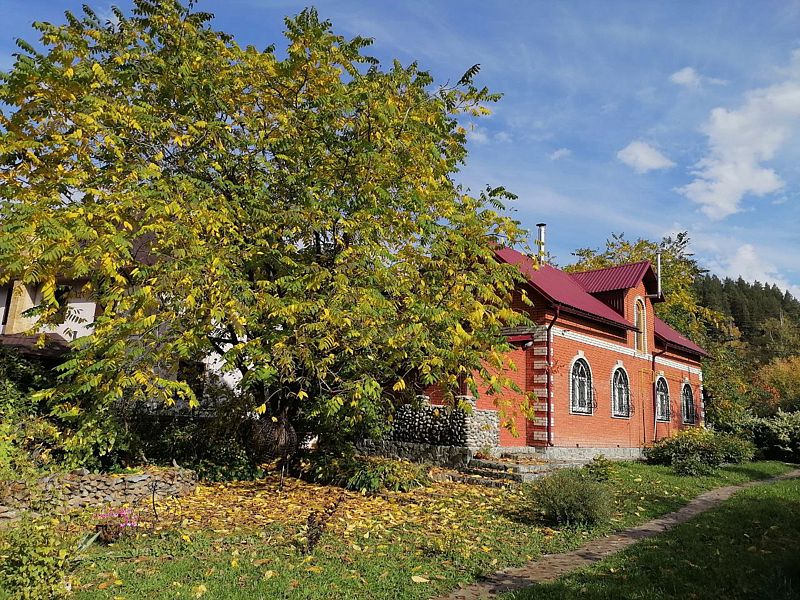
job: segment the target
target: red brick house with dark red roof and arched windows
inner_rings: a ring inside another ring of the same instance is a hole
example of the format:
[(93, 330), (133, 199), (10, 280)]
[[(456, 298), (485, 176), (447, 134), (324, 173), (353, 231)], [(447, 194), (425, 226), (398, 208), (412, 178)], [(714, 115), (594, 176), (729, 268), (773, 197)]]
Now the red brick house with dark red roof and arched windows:
[[(648, 261), (566, 273), (536, 269), (535, 259), (513, 249), (496, 254), (527, 279), (533, 306), (520, 290), (515, 309), (535, 323), (506, 332), (516, 366), (507, 375), (537, 396), (532, 421), (513, 416), (516, 437), (500, 428), (501, 449), (636, 456), (656, 439), (702, 425), (706, 353), (655, 316), (663, 298)], [(441, 402), (440, 391), (427, 393)], [(475, 408), (495, 410), (494, 400), (479, 393)]]

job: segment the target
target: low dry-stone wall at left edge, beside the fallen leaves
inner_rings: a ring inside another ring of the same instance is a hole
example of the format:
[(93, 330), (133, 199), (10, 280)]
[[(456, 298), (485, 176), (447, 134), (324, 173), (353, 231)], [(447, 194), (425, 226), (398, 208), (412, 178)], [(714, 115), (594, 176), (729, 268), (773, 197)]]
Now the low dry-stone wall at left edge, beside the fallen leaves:
[(71, 510), (85, 506), (134, 504), (155, 494), (156, 499), (184, 496), (197, 487), (194, 471), (181, 468), (158, 469), (128, 475), (96, 474), (85, 469), (48, 476), (31, 490), (22, 482), (0, 489), (0, 520), (12, 519), (30, 507), (31, 498)]

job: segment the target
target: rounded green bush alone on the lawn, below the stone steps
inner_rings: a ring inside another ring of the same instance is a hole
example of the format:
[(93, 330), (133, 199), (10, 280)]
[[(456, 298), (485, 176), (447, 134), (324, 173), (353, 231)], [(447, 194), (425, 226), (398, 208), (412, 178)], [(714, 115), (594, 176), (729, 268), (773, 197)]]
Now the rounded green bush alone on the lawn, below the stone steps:
[(611, 516), (613, 498), (583, 469), (559, 469), (525, 487), (533, 510), (555, 525), (595, 525)]

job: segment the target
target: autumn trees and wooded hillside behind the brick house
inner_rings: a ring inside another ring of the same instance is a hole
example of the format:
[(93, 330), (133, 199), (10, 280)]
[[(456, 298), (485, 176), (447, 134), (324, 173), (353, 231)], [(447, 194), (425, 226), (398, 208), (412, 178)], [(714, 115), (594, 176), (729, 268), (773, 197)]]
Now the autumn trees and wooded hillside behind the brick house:
[(686, 232), (661, 240), (612, 234), (604, 248), (580, 248), (567, 271), (662, 255), (664, 321), (705, 348), (703, 387), (710, 425), (738, 430), (752, 417), (797, 413), (800, 427), (800, 300), (774, 284), (720, 278), (691, 252)]

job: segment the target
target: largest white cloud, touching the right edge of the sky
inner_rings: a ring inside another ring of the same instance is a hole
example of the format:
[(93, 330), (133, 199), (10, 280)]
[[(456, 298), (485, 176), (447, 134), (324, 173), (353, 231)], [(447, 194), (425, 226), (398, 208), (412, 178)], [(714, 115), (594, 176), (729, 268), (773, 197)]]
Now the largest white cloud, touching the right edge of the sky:
[(679, 191), (712, 219), (738, 212), (747, 194), (777, 192), (783, 180), (762, 163), (775, 157), (798, 126), (800, 50), (795, 50), (785, 81), (751, 90), (738, 109), (711, 111), (703, 126), (708, 150), (695, 165), (694, 181)]

